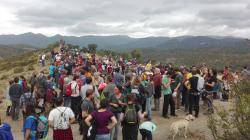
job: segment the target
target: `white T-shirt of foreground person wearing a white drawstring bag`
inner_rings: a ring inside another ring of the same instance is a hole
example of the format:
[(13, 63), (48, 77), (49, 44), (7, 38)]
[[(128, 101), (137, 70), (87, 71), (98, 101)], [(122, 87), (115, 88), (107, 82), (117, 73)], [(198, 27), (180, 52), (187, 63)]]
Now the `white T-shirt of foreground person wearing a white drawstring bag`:
[(73, 111), (69, 107), (60, 106), (54, 108), (53, 110), (50, 111), (48, 120), (53, 122), (53, 127), (55, 130), (59, 128), (60, 118), (61, 118), (60, 115), (62, 113), (65, 115), (66, 118), (65, 121), (66, 126), (64, 126), (63, 129), (68, 129), (70, 127), (69, 119), (75, 117)]

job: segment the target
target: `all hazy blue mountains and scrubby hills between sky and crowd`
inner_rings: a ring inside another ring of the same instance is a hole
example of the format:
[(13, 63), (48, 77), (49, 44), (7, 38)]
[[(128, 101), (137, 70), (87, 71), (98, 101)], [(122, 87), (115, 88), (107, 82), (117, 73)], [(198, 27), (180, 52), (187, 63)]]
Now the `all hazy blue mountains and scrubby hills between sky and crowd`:
[(241, 68), (249, 65), (250, 60), (250, 40), (230, 36), (132, 38), (121, 35), (81, 37), (55, 35), (47, 37), (34, 33), (0, 35), (0, 44), (3, 44), (0, 45), (0, 58), (15, 56), (37, 47), (45, 48), (48, 44), (60, 39), (80, 47), (95, 43), (98, 45), (98, 49), (120, 52), (140, 48), (142, 60), (152, 59), (163, 63), (173, 62), (178, 65), (190, 66), (207, 63), (220, 69), (225, 65)]

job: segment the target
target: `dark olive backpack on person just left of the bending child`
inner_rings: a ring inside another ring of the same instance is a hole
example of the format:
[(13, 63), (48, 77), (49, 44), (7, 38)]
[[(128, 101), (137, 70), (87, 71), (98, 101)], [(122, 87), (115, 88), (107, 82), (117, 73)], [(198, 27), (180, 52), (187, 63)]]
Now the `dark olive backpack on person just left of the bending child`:
[(135, 109), (135, 105), (128, 105), (124, 114), (124, 121), (128, 125), (136, 125), (138, 124), (138, 115)]

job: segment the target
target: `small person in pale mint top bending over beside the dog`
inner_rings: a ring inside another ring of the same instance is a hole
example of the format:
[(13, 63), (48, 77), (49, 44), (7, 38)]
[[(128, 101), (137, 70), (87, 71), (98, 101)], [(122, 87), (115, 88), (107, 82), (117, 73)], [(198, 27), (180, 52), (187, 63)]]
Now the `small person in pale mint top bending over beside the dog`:
[(152, 140), (152, 133), (156, 130), (156, 125), (151, 121), (145, 121), (140, 125), (139, 130), (142, 135), (142, 140)]

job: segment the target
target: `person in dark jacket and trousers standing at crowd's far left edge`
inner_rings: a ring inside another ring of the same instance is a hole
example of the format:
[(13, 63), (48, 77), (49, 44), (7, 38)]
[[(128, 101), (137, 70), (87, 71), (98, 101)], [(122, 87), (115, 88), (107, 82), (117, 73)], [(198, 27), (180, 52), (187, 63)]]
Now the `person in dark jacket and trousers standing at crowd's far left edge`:
[(16, 121), (19, 118), (19, 112), (20, 112), (20, 98), (23, 94), (23, 89), (20, 84), (18, 84), (19, 78), (14, 78), (14, 84), (10, 86), (9, 89), (9, 96), (12, 103), (11, 108), (11, 116), (12, 120)]

